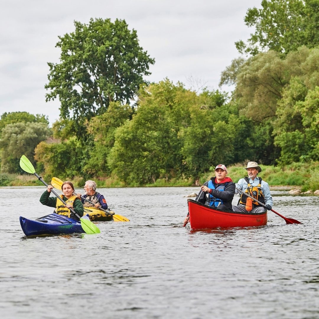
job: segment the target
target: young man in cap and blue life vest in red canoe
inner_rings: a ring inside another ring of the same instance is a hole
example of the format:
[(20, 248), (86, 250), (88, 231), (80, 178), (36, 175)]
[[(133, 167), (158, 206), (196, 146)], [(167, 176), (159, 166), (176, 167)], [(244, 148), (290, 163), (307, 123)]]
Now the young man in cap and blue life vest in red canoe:
[[(215, 168), (215, 177), (201, 187), (201, 191), (196, 197), (196, 201), (207, 206), (225, 211), (232, 211), (232, 201), (235, 195), (235, 183), (230, 177), (226, 177), (227, 168), (223, 164), (219, 164)], [(184, 224), (189, 221), (187, 215)]]

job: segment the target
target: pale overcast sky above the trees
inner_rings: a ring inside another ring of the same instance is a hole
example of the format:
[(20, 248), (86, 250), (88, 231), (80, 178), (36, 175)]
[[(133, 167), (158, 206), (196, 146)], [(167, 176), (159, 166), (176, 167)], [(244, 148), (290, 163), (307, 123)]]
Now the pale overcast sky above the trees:
[[(73, 21), (125, 19), (140, 45), (155, 58), (149, 81), (169, 78), (186, 87), (218, 89), (220, 73), (239, 56), (234, 42), (253, 32), (244, 24), (261, 0), (11, 0), (1, 5), (0, 116), (4, 112), (59, 118), (59, 101), (45, 102), (49, 68), (57, 63), (58, 36)], [(222, 88), (226, 90), (226, 87)]]

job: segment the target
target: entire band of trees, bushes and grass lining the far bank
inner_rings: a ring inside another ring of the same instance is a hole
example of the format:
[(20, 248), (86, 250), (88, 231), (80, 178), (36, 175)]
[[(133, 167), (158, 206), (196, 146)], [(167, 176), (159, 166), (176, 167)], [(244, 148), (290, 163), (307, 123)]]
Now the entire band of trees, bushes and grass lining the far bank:
[(318, 0), (249, 9), (256, 33), (236, 43), (243, 55), (221, 74), (232, 94), (148, 83), (155, 60), (124, 20), (75, 22), (57, 43), (60, 63), (48, 63), (46, 97), (60, 100), (60, 119), (50, 128), (44, 115), (1, 116), (0, 185), (33, 184), (19, 175), (25, 154), (45, 180), (79, 187), (89, 178), (99, 187), (197, 186), (219, 163), (237, 181), (253, 160), (271, 186), (319, 189), (318, 17)]

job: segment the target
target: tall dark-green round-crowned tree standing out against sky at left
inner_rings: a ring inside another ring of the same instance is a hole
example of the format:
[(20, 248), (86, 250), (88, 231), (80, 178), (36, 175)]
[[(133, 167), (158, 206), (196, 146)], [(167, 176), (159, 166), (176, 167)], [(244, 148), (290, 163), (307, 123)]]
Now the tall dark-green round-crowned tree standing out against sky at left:
[(75, 31), (59, 36), (60, 63), (48, 63), (46, 100), (59, 98), (62, 120), (73, 119), (72, 129), (85, 137), (84, 122), (103, 114), (110, 102), (131, 103), (154, 64), (140, 47), (136, 30), (125, 20), (75, 21)]

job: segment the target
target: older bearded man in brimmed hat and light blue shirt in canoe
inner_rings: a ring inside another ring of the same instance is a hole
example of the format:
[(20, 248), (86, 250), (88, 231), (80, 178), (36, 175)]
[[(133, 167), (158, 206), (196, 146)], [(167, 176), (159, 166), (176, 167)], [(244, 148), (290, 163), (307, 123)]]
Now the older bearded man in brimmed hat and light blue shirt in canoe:
[[(248, 177), (241, 178), (236, 183), (236, 188), (241, 189), (245, 194), (249, 194), (257, 201), (263, 203), (267, 210), (271, 210), (272, 197), (268, 183), (262, 180), (261, 177), (257, 177), (257, 174), (261, 172), (260, 166), (256, 162), (248, 162), (247, 167)], [(236, 194), (239, 191), (236, 190)], [(250, 197), (241, 193), (238, 206), (233, 206), (233, 211), (259, 213), (265, 211), (264, 206), (257, 203), (257, 201), (251, 200)]]

